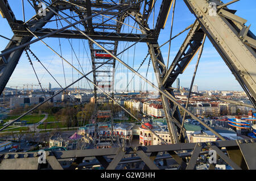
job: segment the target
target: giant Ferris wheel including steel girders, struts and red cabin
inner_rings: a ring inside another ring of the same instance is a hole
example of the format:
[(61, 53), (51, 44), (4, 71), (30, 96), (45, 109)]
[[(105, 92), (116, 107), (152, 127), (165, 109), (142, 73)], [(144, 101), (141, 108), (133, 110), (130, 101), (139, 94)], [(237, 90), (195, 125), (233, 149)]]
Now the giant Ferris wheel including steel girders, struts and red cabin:
[[(23, 51), (28, 50), (32, 52), (29, 48), (30, 44), (37, 41), (44, 43), (44, 38), (46, 37), (53, 39), (86, 39), (89, 42), (93, 70), (85, 74), (73, 68), (78, 71), (82, 77), (71, 85), (63, 88), (61, 91), (65, 91), (65, 89), (72, 86), (74, 83), (85, 78), (94, 85), (94, 99), (96, 103), (98, 92), (102, 92), (115, 104), (121, 106), (113, 96), (115, 62), (118, 61), (119, 64), (125, 66), (143, 81), (146, 81), (150, 86), (159, 91), (172, 142), (172, 144), (168, 145), (162, 138), (156, 135), (162, 140), (162, 145), (47, 151), (47, 166), (42, 166), (38, 163), (39, 155), (37, 153), (7, 153), (0, 157), (0, 169), (82, 169), (90, 168), (93, 165), (101, 165), (104, 169), (122, 169), (124, 166), (127, 167), (127, 165), (129, 166), (133, 163), (144, 164), (141, 169), (195, 169), (196, 165), (200, 165), (200, 163), (197, 162), (197, 158), (199, 158), (200, 155), (208, 154), (209, 150), (215, 150), (218, 158), (221, 158), (233, 169), (256, 169), (256, 140), (254, 138), (249, 140), (225, 140), (224, 137), (210, 128), (199, 117), (189, 112), (187, 107), (181, 106), (175, 98), (174, 89), (172, 89), (172, 85), (178, 75), (185, 71), (187, 66), (189, 66), (189, 62), (191, 62), (197, 52), (199, 52), (198, 64), (203, 51), (204, 41), (207, 37), (214, 48), (216, 48), (225, 64), (232, 71), (242, 89), (246, 92), (252, 106), (256, 108), (255, 35), (249, 30), (250, 26), (245, 26), (246, 20), (235, 14), (236, 10), (228, 9), (229, 5), (239, 0), (233, 0), (228, 3), (223, 3), (220, 0), (183, 1), (187, 6), (184, 8), (191, 11), (193, 16), (196, 17), (196, 20), (191, 26), (179, 33), (180, 35), (188, 31), (174, 60), (170, 62), (170, 65), (167, 61), (166, 65), (160, 50), (162, 45), (158, 44), (158, 39), (160, 31), (166, 26), (172, 5), (173, 21), (175, 0), (56, 0), (51, 2), (29, 0), (31, 6), (35, 9), (36, 15), (27, 22), (15, 18), (9, 1), (0, 0), (1, 15), (3, 18), (6, 18), (14, 33), (9, 44), (7, 44), (5, 50), (0, 54), (0, 92), (5, 89)], [(46, 5), (44, 16), (40, 15), (42, 11), (39, 11), (39, 3)], [(148, 19), (152, 18), (152, 11), (156, 3), (160, 4), (160, 9), (158, 18), (155, 19), (156, 24), (154, 28), (151, 29), (148, 26)], [(65, 10), (75, 12), (79, 19), (73, 18), (73, 21), (70, 22), (68, 18), (72, 17), (65, 14)], [(47, 22), (54, 20), (55, 16), (65, 21), (68, 25), (61, 28), (45, 28), (44, 26), (46, 26)], [(100, 17), (100, 19), (102, 17), (105, 18), (98, 20), (97, 17)], [(140, 30), (141, 33), (121, 33), (121, 27), (127, 25), (125, 23), (127, 17), (133, 19), (134, 22), (138, 24), (138, 30)], [(78, 24), (82, 25), (83, 28), (77, 28)], [(73, 28), (72, 30), (70, 29), (71, 27)], [(176, 36), (172, 36), (172, 39), (175, 37)], [(171, 43), (172, 39), (168, 40), (166, 43)], [(119, 41), (131, 42), (130, 47), (133, 47), (133, 45), (139, 42), (147, 45), (148, 54), (152, 61), (158, 85), (154, 85), (147, 78), (139, 74), (138, 71), (118, 58), (119, 54), (130, 48), (128, 47), (118, 53), (117, 48)], [(47, 45), (47, 47), (51, 49), (49, 45)], [(54, 50), (53, 52), (72, 66), (72, 64), (65, 60), (60, 54)], [(92, 81), (86, 77), (90, 73), (93, 74)], [(196, 70), (192, 80), (195, 78), (195, 74)], [(191, 85), (193, 85), (193, 81)], [(109, 95), (108, 92), (112, 92), (112, 95)], [(189, 96), (190, 94), (191, 89)], [(51, 98), (53, 96), (51, 96)], [(47, 102), (47, 100), (44, 102)], [(236, 102), (236, 104), (241, 103)], [(40, 105), (41, 104), (35, 108)], [(121, 108), (139, 123), (142, 123), (141, 120), (133, 116), (126, 108), (122, 106)], [(185, 114), (204, 125), (205, 128), (214, 133), (221, 141), (189, 143), (184, 128), (184, 116), (181, 115), (180, 110), (183, 110)], [(26, 113), (20, 117), (24, 115), (26, 115)], [(109, 116), (109, 114), (102, 112), (101, 115), (98, 114), (97, 116), (106, 117)], [(9, 125), (13, 124), (15, 121), (16, 120)], [(233, 127), (247, 129), (246, 123), (242, 121), (228, 121)], [(255, 117), (253, 121), (255, 121)], [(1, 128), (0, 131), (9, 125)], [(144, 124), (142, 123), (142, 125)], [(150, 129), (146, 126), (145, 128)], [(152, 134), (156, 134), (154, 131), (150, 131)], [(131, 157), (131, 155), (136, 156)], [(73, 159), (72, 163), (68, 165), (67, 163), (64, 164), (64, 159), (71, 158)], [(83, 162), (83, 160), (86, 162)], [(172, 160), (175, 163), (168, 165), (166, 160)], [(164, 164), (156, 164), (159, 161), (164, 161)], [(216, 163), (210, 163), (209, 169), (214, 169), (215, 166)]]

